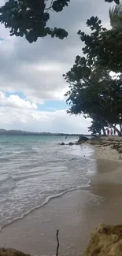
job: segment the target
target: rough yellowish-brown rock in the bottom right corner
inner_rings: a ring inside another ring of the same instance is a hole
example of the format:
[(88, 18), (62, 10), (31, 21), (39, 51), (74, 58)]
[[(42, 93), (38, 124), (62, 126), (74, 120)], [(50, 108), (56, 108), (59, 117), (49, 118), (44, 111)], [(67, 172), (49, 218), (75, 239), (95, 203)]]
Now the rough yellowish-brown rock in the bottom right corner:
[(122, 224), (96, 228), (83, 256), (122, 256)]

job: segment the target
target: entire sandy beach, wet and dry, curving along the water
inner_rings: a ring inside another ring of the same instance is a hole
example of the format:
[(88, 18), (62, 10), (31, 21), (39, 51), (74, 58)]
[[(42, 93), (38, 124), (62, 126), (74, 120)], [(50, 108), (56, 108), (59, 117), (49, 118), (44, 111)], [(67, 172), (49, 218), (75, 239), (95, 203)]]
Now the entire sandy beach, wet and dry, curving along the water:
[[(105, 139), (106, 140), (106, 139)], [(115, 139), (116, 140), (116, 139)], [(0, 233), (0, 246), (34, 255), (55, 255), (59, 229), (60, 255), (81, 255), (98, 224), (120, 224), (122, 215), (122, 160), (109, 145), (94, 147), (91, 186), (68, 192), (28, 214)]]

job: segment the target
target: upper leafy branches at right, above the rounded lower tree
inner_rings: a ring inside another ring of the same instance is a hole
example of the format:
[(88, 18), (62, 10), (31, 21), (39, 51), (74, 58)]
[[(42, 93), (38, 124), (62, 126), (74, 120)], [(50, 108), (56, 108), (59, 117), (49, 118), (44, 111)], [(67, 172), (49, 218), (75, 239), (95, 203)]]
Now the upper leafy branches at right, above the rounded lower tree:
[(83, 54), (92, 65), (93, 58), (105, 69), (113, 72), (122, 71), (122, 3), (109, 10), (111, 29), (102, 26), (102, 20), (91, 17), (87, 20), (87, 27), (91, 34), (79, 30), (79, 38), (85, 46)]

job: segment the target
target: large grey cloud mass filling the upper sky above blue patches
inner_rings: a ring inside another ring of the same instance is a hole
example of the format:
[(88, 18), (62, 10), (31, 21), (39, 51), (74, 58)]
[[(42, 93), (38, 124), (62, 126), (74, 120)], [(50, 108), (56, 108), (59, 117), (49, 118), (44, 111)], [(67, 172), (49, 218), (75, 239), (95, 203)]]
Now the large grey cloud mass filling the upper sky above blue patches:
[[(82, 43), (76, 32), (87, 29), (85, 22), (92, 15), (102, 17), (106, 23), (108, 8), (103, 0), (71, 1), (61, 13), (50, 13), (50, 26), (66, 28), (68, 39), (39, 39), (29, 44), (24, 38), (9, 37), (9, 30), (2, 30), (0, 42), (0, 83), (3, 91), (21, 91), (26, 97), (42, 102), (58, 98), (67, 84), (62, 74), (74, 63), (77, 54), (82, 54)], [(3, 34), (3, 35), (2, 35)]]

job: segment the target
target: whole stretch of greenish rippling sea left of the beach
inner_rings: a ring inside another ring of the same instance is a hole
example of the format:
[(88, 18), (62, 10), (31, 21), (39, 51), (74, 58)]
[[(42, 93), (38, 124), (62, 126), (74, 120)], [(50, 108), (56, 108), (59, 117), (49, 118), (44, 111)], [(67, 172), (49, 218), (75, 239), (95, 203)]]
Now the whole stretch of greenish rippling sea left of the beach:
[(0, 229), (68, 191), (89, 187), (93, 149), (78, 137), (0, 136)]

